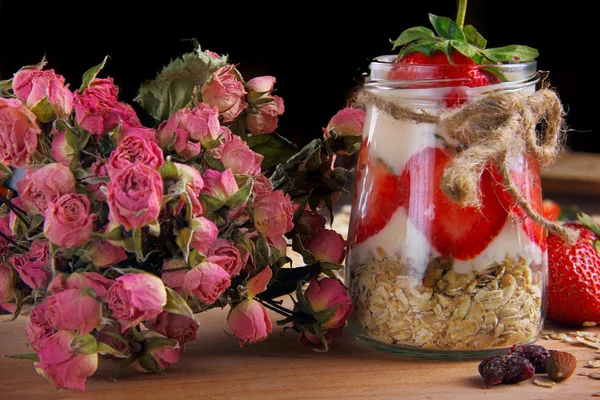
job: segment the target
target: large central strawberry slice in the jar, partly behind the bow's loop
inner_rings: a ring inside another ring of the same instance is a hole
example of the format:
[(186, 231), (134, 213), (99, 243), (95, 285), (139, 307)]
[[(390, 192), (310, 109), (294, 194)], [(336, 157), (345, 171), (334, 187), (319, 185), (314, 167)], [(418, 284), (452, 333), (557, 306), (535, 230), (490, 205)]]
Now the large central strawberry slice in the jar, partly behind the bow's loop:
[(508, 213), (496, 194), (502, 178), (492, 166), (481, 175), (481, 208), (464, 207), (442, 191), (442, 174), (453, 157), (449, 149), (427, 148), (409, 159), (401, 179), (412, 223), (442, 256), (467, 260), (485, 250)]

